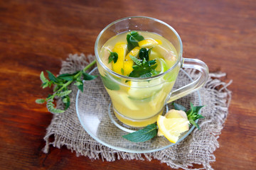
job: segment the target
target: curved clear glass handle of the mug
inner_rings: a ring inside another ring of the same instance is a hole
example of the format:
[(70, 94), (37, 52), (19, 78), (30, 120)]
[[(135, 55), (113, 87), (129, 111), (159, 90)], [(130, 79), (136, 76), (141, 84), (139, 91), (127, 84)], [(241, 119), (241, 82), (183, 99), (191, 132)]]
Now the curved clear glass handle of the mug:
[(176, 89), (175, 91), (172, 91), (166, 103), (176, 101), (178, 98), (193, 93), (194, 91), (198, 90), (201, 86), (206, 84), (206, 81), (208, 80), (209, 69), (206, 63), (202, 62), (201, 60), (184, 58), (182, 67), (196, 69), (199, 72), (201, 72), (201, 76), (198, 77), (198, 79), (196, 79), (195, 81), (191, 82), (190, 84), (187, 84), (186, 86), (183, 86), (179, 89)]

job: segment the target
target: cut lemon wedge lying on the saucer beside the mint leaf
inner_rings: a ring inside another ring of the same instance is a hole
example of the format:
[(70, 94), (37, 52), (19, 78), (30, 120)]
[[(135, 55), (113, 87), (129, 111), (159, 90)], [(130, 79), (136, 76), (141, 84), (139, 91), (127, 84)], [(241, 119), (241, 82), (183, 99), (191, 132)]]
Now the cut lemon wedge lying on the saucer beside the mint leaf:
[(188, 120), (186, 118), (166, 118), (159, 115), (157, 118), (157, 125), (164, 137), (173, 143), (178, 141), (178, 137), (182, 132), (188, 130), (188, 128), (184, 128), (188, 125)]

